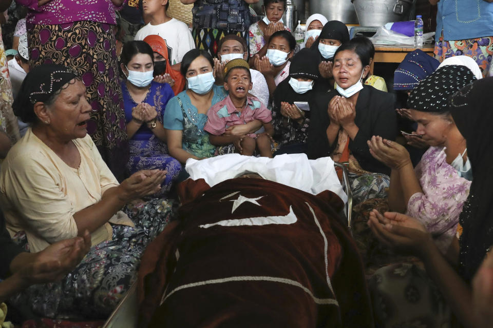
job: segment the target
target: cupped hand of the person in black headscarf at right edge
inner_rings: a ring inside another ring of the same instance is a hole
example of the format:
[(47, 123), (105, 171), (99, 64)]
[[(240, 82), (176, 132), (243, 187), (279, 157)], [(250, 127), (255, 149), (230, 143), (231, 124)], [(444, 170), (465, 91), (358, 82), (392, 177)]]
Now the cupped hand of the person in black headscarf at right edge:
[(382, 215), (373, 210), (367, 224), (383, 244), (405, 254), (421, 257), (433, 247), (433, 239), (426, 228), (410, 216), (395, 212)]

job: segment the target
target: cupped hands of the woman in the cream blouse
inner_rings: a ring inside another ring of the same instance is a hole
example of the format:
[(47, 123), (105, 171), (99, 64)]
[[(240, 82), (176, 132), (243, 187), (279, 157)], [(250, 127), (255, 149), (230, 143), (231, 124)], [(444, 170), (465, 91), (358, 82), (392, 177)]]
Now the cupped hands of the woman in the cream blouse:
[(119, 199), (128, 203), (134, 199), (152, 195), (161, 190), (161, 183), (166, 178), (164, 170), (141, 170), (123, 180), (119, 188)]

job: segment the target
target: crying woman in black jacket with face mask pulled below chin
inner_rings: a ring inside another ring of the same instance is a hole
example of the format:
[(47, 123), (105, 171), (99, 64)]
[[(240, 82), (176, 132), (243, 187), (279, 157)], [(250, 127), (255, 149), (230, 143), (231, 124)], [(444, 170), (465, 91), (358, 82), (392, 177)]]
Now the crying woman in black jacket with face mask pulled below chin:
[(373, 135), (394, 140), (397, 134), (394, 96), (362, 84), (369, 64), (361, 43), (349, 41), (336, 50), (332, 72), (337, 89), (314, 101), (307, 142), (311, 158), (331, 155), (334, 161), (350, 162), (356, 202), (385, 196), (389, 186), (390, 170), (373, 158), (367, 140)]

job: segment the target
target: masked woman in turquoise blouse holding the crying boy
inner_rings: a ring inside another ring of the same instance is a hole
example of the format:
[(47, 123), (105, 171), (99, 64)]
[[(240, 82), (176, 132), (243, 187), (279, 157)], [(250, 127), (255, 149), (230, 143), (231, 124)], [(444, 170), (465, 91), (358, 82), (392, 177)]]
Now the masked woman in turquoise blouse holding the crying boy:
[[(169, 154), (182, 164), (188, 158), (202, 159), (214, 156), (216, 147), (204, 131), (207, 111), (223, 100), (224, 87), (215, 84), (214, 61), (203, 50), (188, 51), (181, 62), (181, 73), (186, 78), (186, 90), (168, 101), (163, 116)], [(252, 125), (254, 125), (252, 127)], [(247, 125), (246, 133), (258, 129), (256, 122)]]

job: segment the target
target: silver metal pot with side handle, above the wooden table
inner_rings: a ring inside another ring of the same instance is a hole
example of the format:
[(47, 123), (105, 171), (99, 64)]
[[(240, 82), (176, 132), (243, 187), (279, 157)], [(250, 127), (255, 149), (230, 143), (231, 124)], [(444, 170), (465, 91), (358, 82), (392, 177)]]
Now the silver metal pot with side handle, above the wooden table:
[(409, 19), (415, 0), (352, 0), (359, 25), (384, 26)]

